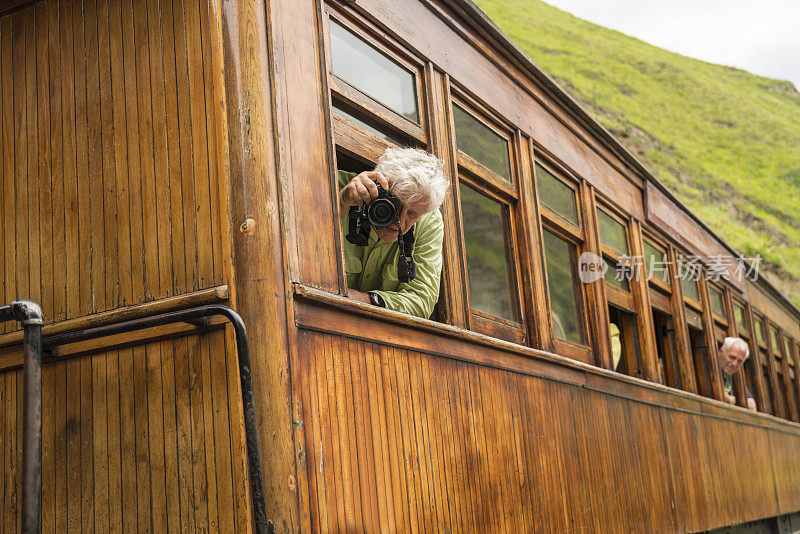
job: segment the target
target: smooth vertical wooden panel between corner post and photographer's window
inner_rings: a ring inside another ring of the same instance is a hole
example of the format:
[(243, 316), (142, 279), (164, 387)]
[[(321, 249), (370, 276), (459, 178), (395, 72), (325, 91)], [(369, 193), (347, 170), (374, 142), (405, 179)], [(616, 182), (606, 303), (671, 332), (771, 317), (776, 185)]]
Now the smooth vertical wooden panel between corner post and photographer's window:
[(292, 192), (284, 213), (290, 279), (343, 292), (330, 98), (318, 47), (321, 14), (317, 2), (307, 1), (271, 2), (270, 11), (268, 31), (281, 66), (274, 81), (280, 188)]

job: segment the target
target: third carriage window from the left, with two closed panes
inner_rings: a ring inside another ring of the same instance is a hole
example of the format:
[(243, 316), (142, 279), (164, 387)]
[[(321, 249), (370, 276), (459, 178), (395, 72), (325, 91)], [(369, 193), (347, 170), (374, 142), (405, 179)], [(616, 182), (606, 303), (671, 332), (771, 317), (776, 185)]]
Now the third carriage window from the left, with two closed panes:
[(557, 353), (594, 363), (588, 340), (586, 295), (578, 277), (578, 258), (585, 240), (578, 186), (555, 165), (534, 165), (537, 199), (542, 218), (550, 324)]

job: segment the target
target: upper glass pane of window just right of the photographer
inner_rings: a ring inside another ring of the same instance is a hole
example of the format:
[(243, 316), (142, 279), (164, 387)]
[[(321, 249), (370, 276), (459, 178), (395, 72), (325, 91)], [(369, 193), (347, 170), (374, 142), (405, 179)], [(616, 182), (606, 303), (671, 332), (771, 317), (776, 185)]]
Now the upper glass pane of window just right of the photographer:
[(458, 104), (453, 104), (453, 122), (456, 127), (456, 146), (510, 182), (508, 141), (464, 111)]

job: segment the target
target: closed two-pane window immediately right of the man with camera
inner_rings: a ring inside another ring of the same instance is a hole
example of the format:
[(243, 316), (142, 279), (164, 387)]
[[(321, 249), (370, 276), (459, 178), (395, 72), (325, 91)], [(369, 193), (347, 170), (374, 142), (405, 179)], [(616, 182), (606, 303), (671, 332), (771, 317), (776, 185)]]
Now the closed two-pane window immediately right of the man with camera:
[(466, 96), (451, 106), (469, 326), (524, 343), (512, 130)]

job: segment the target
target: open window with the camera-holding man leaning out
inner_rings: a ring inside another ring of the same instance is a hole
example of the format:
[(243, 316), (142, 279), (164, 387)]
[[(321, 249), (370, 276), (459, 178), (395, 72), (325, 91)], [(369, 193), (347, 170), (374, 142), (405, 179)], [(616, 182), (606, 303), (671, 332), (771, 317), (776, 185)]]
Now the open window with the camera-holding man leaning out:
[[(372, 170), (390, 147), (429, 150), (423, 99), (425, 63), (347, 8), (325, 6), (325, 15), (337, 178), (344, 181), (349, 177), (342, 171), (358, 174)], [(339, 215), (346, 234), (349, 222), (345, 213)], [(348, 274), (348, 286), (352, 287), (350, 278)], [(439, 317), (437, 306), (431, 318)]]

